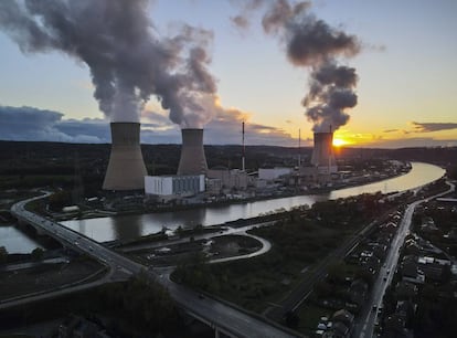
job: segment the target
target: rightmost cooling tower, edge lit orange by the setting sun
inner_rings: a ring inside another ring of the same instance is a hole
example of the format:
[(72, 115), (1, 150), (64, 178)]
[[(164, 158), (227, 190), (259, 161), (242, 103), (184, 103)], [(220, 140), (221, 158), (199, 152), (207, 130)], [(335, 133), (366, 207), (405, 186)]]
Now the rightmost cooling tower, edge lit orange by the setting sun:
[(333, 156), (333, 133), (315, 133), (311, 165), (327, 173), (338, 171)]

